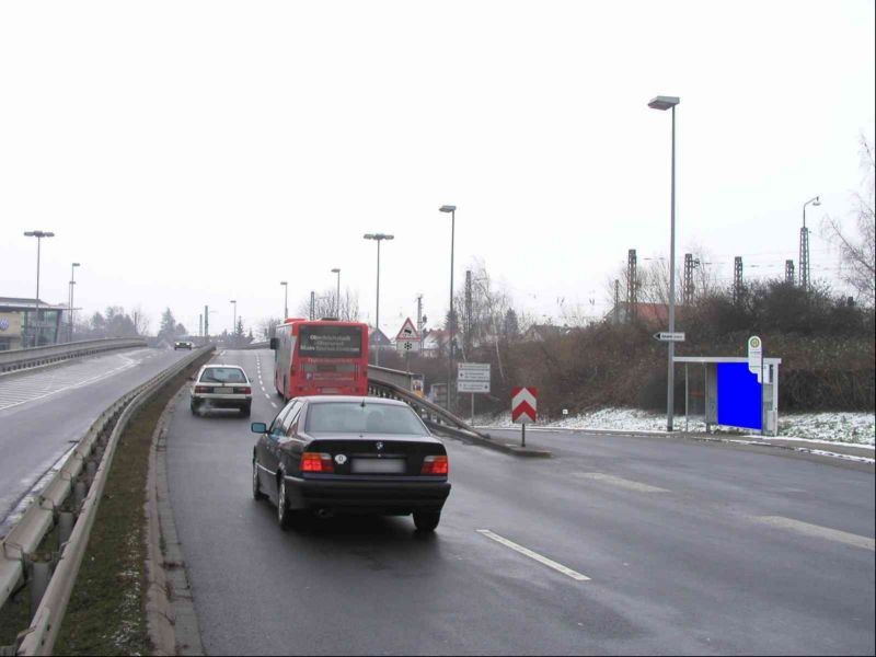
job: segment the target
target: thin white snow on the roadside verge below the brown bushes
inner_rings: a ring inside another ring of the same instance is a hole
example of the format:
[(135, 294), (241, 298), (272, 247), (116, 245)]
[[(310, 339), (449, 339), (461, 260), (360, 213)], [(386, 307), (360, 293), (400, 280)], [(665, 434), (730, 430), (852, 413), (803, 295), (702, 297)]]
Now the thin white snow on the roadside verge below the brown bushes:
[[(475, 426), (516, 427), (510, 413), (497, 416), (479, 415)], [(615, 429), (626, 431), (666, 431), (666, 415), (637, 408), (602, 408), (592, 413), (567, 416), (561, 419), (540, 420), (535, 427), (564, 429)], [(702, 417), (691, 417), (688, 422), (691, 431), (704, 431)], [(683, 430), (684, 416), (676, 416), (676, 427)], [(750, 436), (750, 431), (719, 427), (718, 434)], [(779, 416), (779, 437), (798, 438), (814, 442), (846, 442), (874, 445), (876, 415), (873, 413), (795, 413)], [(758, 436), (760, 438), (760, 436)]]

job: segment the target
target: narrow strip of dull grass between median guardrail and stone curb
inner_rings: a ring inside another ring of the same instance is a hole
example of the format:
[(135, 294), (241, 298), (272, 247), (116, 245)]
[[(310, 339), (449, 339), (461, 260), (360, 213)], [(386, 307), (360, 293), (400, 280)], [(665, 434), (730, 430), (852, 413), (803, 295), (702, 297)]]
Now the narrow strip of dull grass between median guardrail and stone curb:
[(89, 546), (55, 653), (148, 655), (146, 620), (146, 481), (152, 434), (164, 407), (200, 367), (182, 372), (128, 423), (119, 438)]

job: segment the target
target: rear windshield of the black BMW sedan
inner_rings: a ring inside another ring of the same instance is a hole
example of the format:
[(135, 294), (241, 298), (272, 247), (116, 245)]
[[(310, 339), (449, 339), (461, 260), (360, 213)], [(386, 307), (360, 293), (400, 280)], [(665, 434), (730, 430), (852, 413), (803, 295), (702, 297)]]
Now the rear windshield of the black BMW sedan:
[(407, 406), (366, 402), (311, 404), (308, 434), (403, 434), (428, 436), (428, 431)]

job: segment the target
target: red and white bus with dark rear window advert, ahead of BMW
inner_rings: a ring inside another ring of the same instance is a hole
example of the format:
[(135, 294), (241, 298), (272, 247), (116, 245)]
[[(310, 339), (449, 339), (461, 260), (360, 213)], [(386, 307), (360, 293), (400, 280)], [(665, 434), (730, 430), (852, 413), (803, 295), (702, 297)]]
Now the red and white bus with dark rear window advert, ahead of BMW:
[(284, 400), (368, 394), (368, 324), (290, 319), (275, 336), (274, 387)]

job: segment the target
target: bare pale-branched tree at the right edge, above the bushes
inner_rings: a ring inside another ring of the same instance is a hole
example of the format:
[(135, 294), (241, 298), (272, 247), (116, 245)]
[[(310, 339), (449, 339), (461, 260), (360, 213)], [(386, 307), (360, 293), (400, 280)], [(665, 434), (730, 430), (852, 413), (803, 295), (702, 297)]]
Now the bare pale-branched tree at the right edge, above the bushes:
[[(835, 217), (826, 217), (821, 231), (840, 252), (840, 276), (857, 292), (858, 299), (874, 306), (876, 287), (876, 217), (874, 191), (876, 165), (873, 143), (861, 137), (861, 169), (863, 191), (855, 193), (854, 221), (856, 230), (846, 229)], [(857, 234), (854, 234), (854, 233)]]

